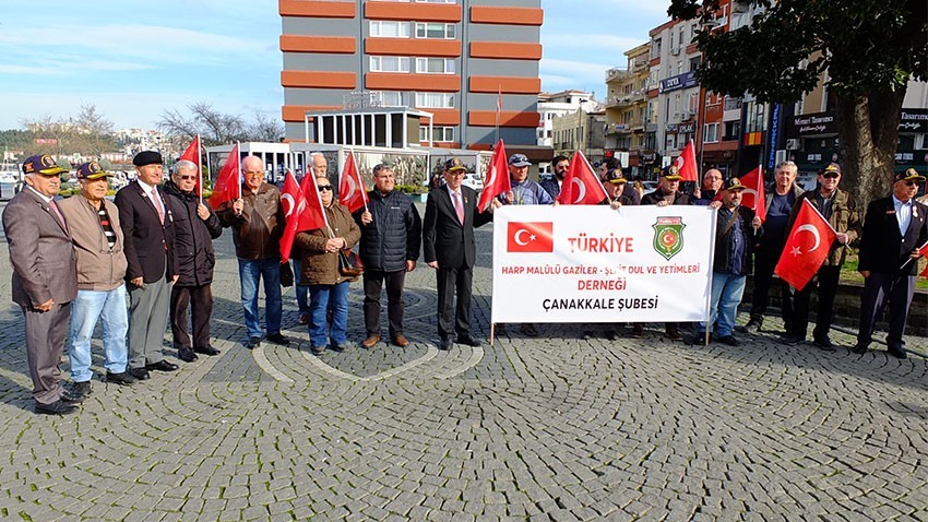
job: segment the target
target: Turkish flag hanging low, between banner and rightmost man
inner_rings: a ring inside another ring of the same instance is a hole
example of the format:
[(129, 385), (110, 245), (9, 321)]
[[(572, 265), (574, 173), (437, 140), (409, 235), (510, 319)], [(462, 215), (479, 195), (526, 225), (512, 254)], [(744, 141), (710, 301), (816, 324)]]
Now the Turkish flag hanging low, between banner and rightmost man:
[(801, 290), (825, 262), (835, 238), (834, 228), (809, 200), (804, 199), (774, 272)]

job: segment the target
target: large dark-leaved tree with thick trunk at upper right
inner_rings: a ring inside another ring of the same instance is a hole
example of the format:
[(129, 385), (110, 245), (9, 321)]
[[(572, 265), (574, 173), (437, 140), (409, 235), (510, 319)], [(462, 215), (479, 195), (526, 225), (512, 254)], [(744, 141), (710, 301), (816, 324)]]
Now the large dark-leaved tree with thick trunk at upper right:
[[(718, 0), (671, 0), (668, 14), (711, 27)], [(888, 193), (909, 79), (928, 80), (925, 0), (748, 0), (750, 26), (701, 31), (697, 78), (731, 96), (794, 103), (822, 78), (837, 99), (844, 185), (861, 203)]]

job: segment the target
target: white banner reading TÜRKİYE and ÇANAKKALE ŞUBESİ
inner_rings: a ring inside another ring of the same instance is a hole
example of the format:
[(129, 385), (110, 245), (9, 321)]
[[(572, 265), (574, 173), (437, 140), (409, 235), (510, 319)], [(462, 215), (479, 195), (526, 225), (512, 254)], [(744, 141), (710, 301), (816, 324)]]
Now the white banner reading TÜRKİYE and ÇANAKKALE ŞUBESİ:
[(715, 216), (707, 206), (497, 209), (492, 322), (705, 322)]

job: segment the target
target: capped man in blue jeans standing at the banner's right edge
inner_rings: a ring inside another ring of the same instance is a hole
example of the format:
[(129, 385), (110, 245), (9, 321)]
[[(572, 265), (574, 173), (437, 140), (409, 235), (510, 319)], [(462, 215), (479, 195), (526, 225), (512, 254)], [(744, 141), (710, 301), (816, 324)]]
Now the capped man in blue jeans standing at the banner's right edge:
[[(738, 178), (729, 178), (722, 186), (722, 205), (715, 228), (715, 256), (712, 264), (712, 296), (710, 324), (715, 339), (729, 346), (738, 346), (733, 335), (738, 305), (745, 294), (745, 282), (751, 272), (751, 251), (756, 238), (763, 234), (761, 220), (754, 211), (741, 206), (745, 186)], [(716, 205), (712, 205), (715, 207)], [(702, 344), (705, 324), (697, 327), (693, 344)]]

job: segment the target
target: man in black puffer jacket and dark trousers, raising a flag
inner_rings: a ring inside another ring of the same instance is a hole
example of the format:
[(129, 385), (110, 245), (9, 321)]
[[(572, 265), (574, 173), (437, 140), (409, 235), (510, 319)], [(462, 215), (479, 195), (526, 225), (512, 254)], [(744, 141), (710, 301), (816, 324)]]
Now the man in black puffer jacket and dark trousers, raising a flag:
[(365, 348), (380, 342), (380, 294), (386, 283), (386, 317), (390, 340), (400, 347), (409, 344), (403, 334), (403, 286), (406, 272), (416, 268), (421, 246), (423, 222), (419, 211), (406, 194), (394, 190), (393, 167), (373, 167), (373, 190), (368, 207), (355, 212), (361, 229), (360, 257), (365, 265)]

